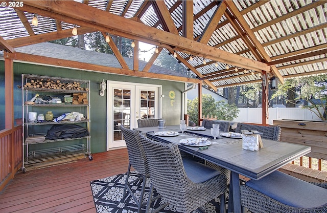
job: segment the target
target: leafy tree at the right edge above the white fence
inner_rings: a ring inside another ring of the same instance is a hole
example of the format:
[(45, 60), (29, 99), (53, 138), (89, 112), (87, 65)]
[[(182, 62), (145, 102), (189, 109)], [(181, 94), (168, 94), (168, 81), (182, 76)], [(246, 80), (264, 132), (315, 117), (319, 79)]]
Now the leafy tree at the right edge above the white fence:
[[(327, 75), (287, 79), (284, 84), (278, 85), (272, 98), (277, 96), (282, 96), (288, 103), (301, 105), (302, 109), (308, 109), (321, 120), (326, 120)], [(308, 104), (299, 104), (298, 100)]]

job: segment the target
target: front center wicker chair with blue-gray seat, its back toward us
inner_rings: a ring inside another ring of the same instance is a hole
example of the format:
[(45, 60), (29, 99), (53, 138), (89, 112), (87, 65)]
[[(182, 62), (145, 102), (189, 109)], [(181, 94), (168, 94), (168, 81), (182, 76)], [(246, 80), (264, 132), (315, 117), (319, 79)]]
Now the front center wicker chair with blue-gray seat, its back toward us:
[(226, 177), (219, 171), (189, 158), (182, 159), (177, 144), (161, 143), (140, 134), (149, 164), (150, 194), (146, 212), (152, 203), (155, 188), (166, 204), (152, 210), (157, 212), (171, 204), (179, 212), (191, 212), (220, 196), (220, 212), (225, 212)]

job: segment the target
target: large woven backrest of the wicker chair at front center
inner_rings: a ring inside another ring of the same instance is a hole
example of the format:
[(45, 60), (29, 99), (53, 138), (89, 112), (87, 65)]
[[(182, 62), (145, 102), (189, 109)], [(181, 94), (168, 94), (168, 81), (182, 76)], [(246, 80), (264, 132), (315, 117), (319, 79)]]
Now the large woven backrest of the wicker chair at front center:
[[(185, 173), (183, 161), (177, 144), (153, 141), (140, 134), (150, 169), (150, 180), (157, 192), (177, 211), (185, 212), (188, 200), (192, 200), (188, 191), (193, 182)], [(189, 195), (189, 196), (188, 196)], [(198, 198), (201, 199), (201, 198)]]

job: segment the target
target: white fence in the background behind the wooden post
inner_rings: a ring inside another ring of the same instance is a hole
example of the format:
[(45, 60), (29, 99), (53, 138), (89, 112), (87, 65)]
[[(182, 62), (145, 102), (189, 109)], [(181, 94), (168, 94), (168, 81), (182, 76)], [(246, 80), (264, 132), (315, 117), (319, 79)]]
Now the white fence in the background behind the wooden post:
[[(262, 108), (239, 108), (240, 113), (236, 122), (262, 123)], [(321, 112), (323, 113), (322, 109)], [(321, 119), (307, 109), (301, 108), (268, 108), (268, 123), (272, 124), (273, 120), (292, 119), (292, 120), (309, 120), (321, 121)]]

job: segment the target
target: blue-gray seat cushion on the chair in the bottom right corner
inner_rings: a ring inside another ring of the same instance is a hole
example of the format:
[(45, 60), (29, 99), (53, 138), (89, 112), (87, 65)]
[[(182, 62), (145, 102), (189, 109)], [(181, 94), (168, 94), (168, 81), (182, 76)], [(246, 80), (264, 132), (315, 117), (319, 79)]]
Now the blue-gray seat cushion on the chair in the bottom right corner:
[(327, 189), (279, 171), (245, 185), (293, 207), (313, 208), (327, 203)]

